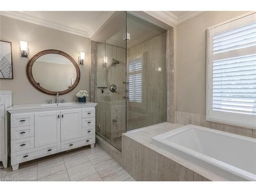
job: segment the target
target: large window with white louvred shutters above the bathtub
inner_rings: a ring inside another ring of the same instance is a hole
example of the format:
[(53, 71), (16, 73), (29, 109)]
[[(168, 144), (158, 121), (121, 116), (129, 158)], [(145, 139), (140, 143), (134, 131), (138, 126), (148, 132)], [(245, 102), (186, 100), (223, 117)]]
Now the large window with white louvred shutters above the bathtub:
[(207, 30), (206, 119), (256, 128), (256, 13)]

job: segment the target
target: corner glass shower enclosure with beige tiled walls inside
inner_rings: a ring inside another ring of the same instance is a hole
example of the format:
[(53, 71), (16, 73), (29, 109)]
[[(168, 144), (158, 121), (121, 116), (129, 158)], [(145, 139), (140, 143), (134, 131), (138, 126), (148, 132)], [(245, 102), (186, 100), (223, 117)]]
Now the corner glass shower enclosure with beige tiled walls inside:
[(105, 29), (91, 48), (96, 134), (121, 151), (122, 133), (166, 121), (166, 31), (127, 12)]

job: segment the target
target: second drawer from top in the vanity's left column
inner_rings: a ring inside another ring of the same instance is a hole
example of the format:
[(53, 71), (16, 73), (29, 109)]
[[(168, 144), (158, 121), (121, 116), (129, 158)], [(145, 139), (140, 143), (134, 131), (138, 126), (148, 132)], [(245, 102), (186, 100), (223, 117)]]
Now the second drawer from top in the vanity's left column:
[(34, 125), (11, 128), (11, 140), (34, 137)]

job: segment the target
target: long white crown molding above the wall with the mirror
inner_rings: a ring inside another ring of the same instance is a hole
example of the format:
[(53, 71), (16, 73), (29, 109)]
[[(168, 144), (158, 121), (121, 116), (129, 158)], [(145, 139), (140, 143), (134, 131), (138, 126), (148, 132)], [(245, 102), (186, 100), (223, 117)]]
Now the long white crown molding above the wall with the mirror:
[(36, 25), (40, 25), (40, 26), (44, 26), (44, 27), (49, 27), (49, 28), (52, 28), (52, 29), (57, 29), (57, 30), (64, 31), (64, 32), (67, 32), (67, 33), (72, 33), (72, 34), (83, 36), (83, 37), (90, 37), (88, 31), (82, 31), (82, 30), (79, 30), (79, 29), (74, 29), (72, 27), (68, 27), (68, 26), (65, 26), (65, 25), (50, 22), (49, 20), (33, 17), (33, 16), (30, 16), (30, 15), (24, 14), (22, 12), (1, 11), (0, 14), (4, 15), (4, 16), (7, 16), (7, 17), (15, 18), (15, 19), (18, 19), (18, 20), (23, 20), (24, 22), (28, 22), (28, 23), (32, 23), (32, 24), (36, 24)]

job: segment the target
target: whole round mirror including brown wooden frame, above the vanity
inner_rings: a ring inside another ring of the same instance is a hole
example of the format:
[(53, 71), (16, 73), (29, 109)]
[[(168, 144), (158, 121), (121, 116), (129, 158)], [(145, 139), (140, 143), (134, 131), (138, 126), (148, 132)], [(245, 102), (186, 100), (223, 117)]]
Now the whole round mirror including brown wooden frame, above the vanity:
[(27, 75), (32, 85), (39, 91), (50, 95), (62, 95), (77, 86), (80, 70), (75, 60), (67, 53), (45, 50), (30, 59)]

